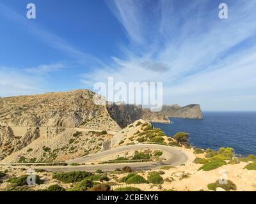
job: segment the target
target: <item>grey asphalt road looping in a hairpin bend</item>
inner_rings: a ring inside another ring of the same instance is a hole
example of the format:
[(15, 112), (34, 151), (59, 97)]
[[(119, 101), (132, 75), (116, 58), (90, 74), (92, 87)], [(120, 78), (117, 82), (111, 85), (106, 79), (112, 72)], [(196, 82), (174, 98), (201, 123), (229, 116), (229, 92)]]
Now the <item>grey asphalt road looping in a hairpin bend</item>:
[(162, 162), (147, 162), (147, 163), (122, 163), (122, 164), (95, 164), (95, 165), (83, 165), (83, 166), (35, 166), (35, 169), (43, 169), (47, 171), (113, 171), (116, 168), (123, 168), (124, 166), (131, 166), (133, 170), (154, 170), (161, 166), (179, 166), (180, 164), (186, 163), (188, 161), (188, 156), (185, 152), (182, 152), (177, 147), (170, 147), (164, 145), (153, 145), (153, 144), (138, 144), (129, 145), (125, 147), (119, 147), (115, 149), (109, 149), (103, 152), (98, 152), (97, 154), (92, 154), (77, 159), (67, 161), (67, 163), (89, 163), (100, 159), (102, 157), (111, 156), (126, 152), (129, 150), (139, 150), (139, 149), (151, 149), (151, 150), (163, 150), (166, 152), (166, 161)]

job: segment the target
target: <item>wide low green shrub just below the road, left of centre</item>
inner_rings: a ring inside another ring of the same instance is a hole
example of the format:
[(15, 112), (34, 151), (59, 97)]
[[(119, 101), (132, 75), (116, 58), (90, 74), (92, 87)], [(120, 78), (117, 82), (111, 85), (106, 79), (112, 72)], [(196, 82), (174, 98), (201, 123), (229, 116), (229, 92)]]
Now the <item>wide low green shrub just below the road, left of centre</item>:
[(54, 173), (52, 175), (52, 179), (57, 179), (65, 184), (70, 184), (74, 182), (81, 182), (81, 180), (86, 179), (86, 177), (90, 177), (92, 175), (92, 173), (87, 171), (72, 171), (65, 173)]

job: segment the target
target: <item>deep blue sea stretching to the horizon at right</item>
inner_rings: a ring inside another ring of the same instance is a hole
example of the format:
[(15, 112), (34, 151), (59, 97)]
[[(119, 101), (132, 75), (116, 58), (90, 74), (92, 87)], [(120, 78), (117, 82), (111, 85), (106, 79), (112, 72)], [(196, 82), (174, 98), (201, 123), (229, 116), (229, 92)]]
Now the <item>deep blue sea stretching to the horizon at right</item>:
[(189, 133), (195, 147), (233, 147), (237, 154), (256, 155), (256, 112), (204, 112), (202, 120), (170, 119), (172, 124), (153, 125), (170, 136)]

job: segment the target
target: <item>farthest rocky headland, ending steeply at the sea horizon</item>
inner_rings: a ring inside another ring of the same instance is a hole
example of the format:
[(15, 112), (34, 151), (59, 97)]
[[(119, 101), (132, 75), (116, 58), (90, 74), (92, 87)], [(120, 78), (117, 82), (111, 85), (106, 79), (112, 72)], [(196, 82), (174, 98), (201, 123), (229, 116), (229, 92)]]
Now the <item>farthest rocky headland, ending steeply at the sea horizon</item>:
[(179, 105), (164, 105), (161, 113), (167, 117), (177, 117), (184, 119), (203, 119), (204, 115), (200, 105), (193, 104), (184, 107)]

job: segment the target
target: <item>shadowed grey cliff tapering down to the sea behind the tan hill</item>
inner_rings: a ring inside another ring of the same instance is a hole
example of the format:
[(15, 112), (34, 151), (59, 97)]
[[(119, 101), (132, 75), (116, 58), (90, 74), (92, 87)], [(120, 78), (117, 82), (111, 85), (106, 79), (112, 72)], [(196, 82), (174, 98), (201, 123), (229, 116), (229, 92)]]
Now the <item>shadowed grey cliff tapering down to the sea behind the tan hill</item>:
[(115, 120), (121, 128), (127, 127), (136, 120), (145, 120), (146, 122), (170, 123), (170, 120), (159, 112), (151, 112), (149, 109), (143, 109), (138, 105), (113, 104), (107, 105), (109, 115)]

